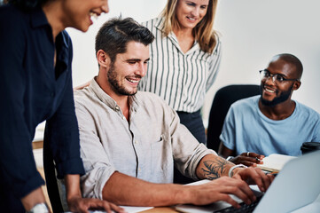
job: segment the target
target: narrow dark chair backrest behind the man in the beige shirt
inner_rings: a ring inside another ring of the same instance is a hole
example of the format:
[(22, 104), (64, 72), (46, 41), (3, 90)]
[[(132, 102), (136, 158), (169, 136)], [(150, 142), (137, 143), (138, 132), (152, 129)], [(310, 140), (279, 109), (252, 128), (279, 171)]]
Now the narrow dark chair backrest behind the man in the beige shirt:
[(60, 200), (55, 164), (51, 148), (47, 143), (43, 143), (43, 170), (52, 211), (54, 213), (64, 212)]

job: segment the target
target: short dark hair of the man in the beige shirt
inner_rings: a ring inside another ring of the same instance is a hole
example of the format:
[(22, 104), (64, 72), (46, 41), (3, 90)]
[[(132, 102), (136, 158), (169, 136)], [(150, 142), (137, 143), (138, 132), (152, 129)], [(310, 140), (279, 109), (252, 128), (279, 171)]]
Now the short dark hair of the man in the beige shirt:
[(127, 51), (127, 43), (134, 41), (148, 45), (152, 43), (153, 39), (152, 32), (137, 23), (136, 20), (113, 18), (106, 21), (98, 31), (96, 53), (103, 50), (114, 61), (117, 54)]

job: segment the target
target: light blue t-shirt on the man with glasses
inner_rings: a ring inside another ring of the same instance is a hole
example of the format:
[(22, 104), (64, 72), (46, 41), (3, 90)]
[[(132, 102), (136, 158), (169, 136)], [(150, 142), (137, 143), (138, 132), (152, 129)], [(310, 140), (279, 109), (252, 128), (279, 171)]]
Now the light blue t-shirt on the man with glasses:
[(220, 139), (236, 154), (300, 155), (303, 142), (320, 142), (320, 114), (295, 101), (289, 117), (274, 121), (261, 113), (260, 95), (241, 99), (230, 106)]

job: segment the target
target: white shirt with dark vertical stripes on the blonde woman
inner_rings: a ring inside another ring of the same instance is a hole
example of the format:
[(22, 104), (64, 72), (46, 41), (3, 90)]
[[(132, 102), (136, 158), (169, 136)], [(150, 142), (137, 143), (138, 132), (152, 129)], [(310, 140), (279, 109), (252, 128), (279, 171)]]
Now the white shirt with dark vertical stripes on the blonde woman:
[(143, 23), (155, 40), (150, 45), (148, 71), (139, 83), (139, 90), (158, 94), (176, 111), (196, 112), (203, 106), (206, 91), (215, 81), (221, 42), (218, 38), (212, 54), (201, 51), (197, 42), (183, 53), (173, 32), (162, 37), (163, 20), (156, 18)]

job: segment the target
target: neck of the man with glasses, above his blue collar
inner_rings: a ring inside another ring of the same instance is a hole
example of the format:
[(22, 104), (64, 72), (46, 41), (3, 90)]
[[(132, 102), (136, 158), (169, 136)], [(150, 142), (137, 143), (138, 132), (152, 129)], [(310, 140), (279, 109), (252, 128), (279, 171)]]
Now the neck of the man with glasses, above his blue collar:
[(295, 102), (292, 99), (288, 99), (287, 101), (275, 106), (265, 106), (262, 104), (261, 99), (259, 99), (259, 109), (261, 113), (267, 116), (269, 119), (279, 121), (284, 120), (293, 114)]

